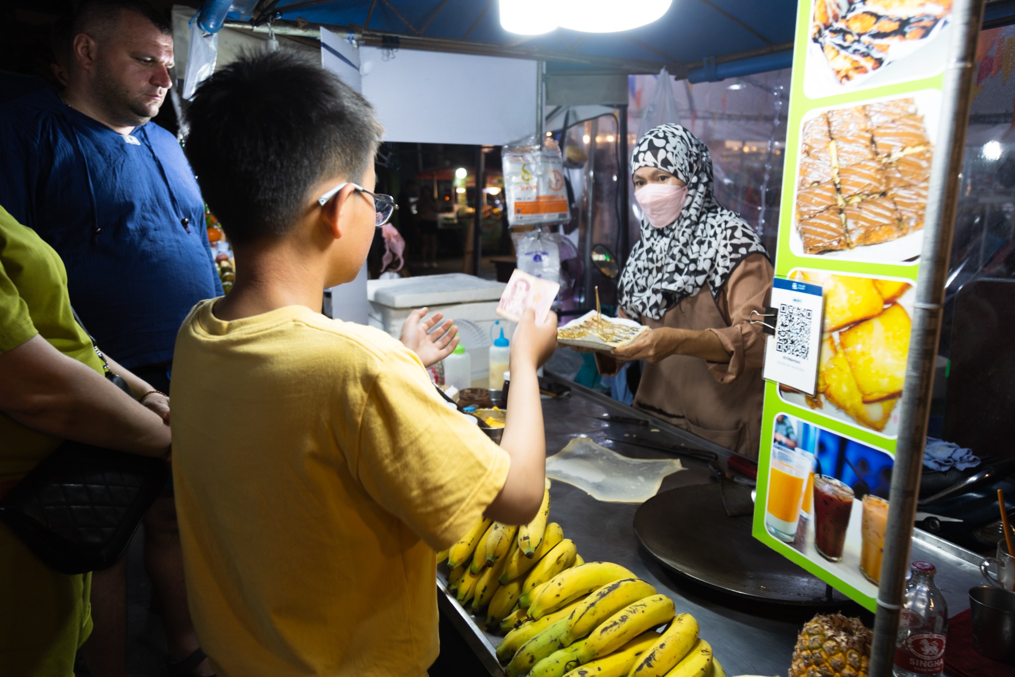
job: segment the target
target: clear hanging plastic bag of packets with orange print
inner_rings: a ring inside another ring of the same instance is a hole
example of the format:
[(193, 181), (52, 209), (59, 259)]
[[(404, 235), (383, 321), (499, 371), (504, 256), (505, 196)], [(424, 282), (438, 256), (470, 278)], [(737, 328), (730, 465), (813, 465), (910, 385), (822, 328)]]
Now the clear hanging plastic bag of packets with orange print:
[(529, 141), (506, 145), (500, 153), (507, 223), (518, 227), (566, 222), (570, 211), (560, 150), (556, 144), (540, 149), (534, 137)]

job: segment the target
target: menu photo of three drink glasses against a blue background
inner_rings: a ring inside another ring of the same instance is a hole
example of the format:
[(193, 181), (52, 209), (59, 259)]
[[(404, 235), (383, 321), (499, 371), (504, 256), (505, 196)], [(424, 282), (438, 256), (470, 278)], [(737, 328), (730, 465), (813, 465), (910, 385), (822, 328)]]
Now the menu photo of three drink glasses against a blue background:
[(788, 414), (775, 416), (765, 530), (862, 594), (877, 594), (892, 458)]

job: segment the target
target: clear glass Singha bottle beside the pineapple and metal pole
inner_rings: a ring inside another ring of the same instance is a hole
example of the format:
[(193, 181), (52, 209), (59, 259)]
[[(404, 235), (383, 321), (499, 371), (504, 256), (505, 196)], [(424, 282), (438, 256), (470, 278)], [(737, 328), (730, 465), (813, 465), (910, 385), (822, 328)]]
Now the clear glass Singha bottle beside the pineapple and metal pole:
[(895, 677), (939, 677), (945, 669), (948, 605), (934, 585), (934, 564), (912, 562), (895, 638)]

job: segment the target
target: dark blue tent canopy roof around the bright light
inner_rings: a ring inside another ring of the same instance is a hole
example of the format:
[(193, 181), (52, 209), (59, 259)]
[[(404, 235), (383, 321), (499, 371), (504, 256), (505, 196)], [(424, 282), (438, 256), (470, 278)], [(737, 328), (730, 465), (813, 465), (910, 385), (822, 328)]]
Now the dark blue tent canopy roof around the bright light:
[[(254, 2), (204, 0), (202, 12)], [(228, 18), (346, 28), (368, 45), (542, 59), (557, 71), (654, 73), (666, 66), (676, 77), (700, 81), (789, 67), (797, 4), (673, 0), (666, 14), (639, 28), (618, 33), (557, 28), (542, 36), (501, 28), (498, 0), (259, 0), (253, 12), (233, 11)], [(1013, 16), (1015, 0), (988, 0), (985, 25)]]

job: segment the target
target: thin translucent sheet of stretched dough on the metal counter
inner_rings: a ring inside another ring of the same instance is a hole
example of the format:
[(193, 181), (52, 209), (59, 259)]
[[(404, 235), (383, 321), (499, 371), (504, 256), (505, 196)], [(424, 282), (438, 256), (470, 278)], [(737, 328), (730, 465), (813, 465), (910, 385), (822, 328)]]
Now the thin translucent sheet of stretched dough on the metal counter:
[(590, 437), (574, 437), (546, 459), (547, 477), (611, 503), (644, 503), (656, 495), (664, 477), (683, 469), (677, 459), (630, 459)]

